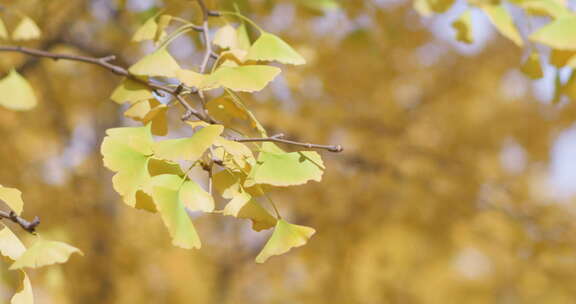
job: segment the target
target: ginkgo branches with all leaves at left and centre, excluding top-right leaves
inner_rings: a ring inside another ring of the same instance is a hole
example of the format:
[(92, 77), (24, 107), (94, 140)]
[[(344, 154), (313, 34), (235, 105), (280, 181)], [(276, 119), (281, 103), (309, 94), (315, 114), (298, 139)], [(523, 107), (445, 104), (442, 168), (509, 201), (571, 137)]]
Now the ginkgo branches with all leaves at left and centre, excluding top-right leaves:
[[(18, 45), (0, 46), (0, 52), (93, 64), (122, 76), (110, 99), (128, 104), (125, 117), (141, 126), (109, 129), (101, 144), (104, 166), (114, 172), (113, 187), (122, 201), (157, 213), (172, 243), (186, 249), (201, 247), (191, 212), (248, 219), (256, 231), (274, 229), (256, 257), (256, 262), (263, 263), (304, 245), (315, 233), (310, 227), (286, 221), (267, 192), (271, 187), (320, 181), (326, 168), (313, 150), (343, 149), (292, 141), (283, 134), (268, 135), (241, 94), (264, 90), (282, 72), (278, 64), (302, 65), (306, 60), (238, 11), (210, 10), (203, 0), (196, 2), (201, 8), (201, 25), (162, 12), (146, 20), (132, 40), (151, 40), (155, 49), (130, 67), (115, 64), (114, 56), (50, 53)], [(34, 20), (13, 13), (20, 21), (10, 32), (0, 20), (0, 39), (17, 44), (41, 36)], [(212, 29), (213, 23), (221, 26)], [(257, 35), (251, 36), (250, 30)], [(189, 33), (198, 33), (204, 42), (203, 60), (197, 69), (182, 68), (169, 51), (176, 39)], [(14, 111), (32, 110), (39, 102), (34, 88), (15, 69), (0, 80), (0, 90), (0, 105)], [(178, 130), (168, 128), (167, 111), (178, 105), (184, 110), (181, 120), (193, 132), (191, 136), (173, 138)], [(171, 138), (159, 138), (166, 135)], [(303, 150), (287, 152), (279, 145)], [(197, 167), (206, 172), (202, 181), (191, 177), (191, 170)], [(10, 209), (0, 216), (37, 235), (37, 240), (26, 249), (5, 226), (0, 230), (0, 253), (13, 260), (10, 269), (22, 273), (23, 287), (12, 303), (32, 303), (30, 280), (23, 269), (63, 263), (71, 254), (82, 252), (40, 237), (38, 218), (28, 222), (20, 217), (20, 195), (16, 189), (0, 187), (0, 200)], [(225, 204), (219, 204), (222, 201)]]

